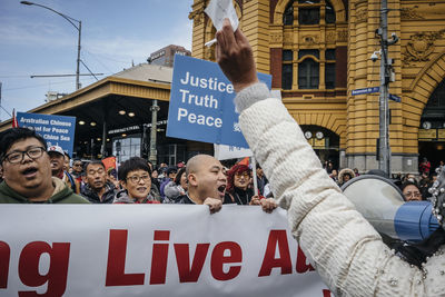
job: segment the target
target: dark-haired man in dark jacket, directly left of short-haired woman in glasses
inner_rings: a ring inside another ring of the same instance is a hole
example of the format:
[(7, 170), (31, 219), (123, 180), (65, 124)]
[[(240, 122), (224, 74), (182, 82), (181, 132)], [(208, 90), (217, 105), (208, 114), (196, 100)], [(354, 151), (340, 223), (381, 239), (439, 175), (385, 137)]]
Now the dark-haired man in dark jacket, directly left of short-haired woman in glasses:
[(80, 194), (92, 204), (111, 204), (116, 195), (115, 184), (107, 179), (105, 165), (93, 160), (85, 165), (86, 185)]

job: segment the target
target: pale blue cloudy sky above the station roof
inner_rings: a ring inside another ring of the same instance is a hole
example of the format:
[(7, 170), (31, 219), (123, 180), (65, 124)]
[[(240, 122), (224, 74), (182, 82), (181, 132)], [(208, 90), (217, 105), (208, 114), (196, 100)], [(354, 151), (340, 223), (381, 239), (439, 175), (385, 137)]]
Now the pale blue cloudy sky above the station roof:
[[(191, 50), (192, 0), (38, 0), (82, 22), (81, 60), (95, 73), (110, 76), (142, 63), (168, 44)], [(78, 31), (62, 17), (19, 0), (0, 0), (0, 120), (12, 108), (28, 111), (44, 103), (48, 91), (70, 93), (76, 77)], [(88, 73), (81, 65), (80, 73)], [(105, 76), (98, 77), (99, 79)], [(96, 79), (81, 77), (86, 87)]]

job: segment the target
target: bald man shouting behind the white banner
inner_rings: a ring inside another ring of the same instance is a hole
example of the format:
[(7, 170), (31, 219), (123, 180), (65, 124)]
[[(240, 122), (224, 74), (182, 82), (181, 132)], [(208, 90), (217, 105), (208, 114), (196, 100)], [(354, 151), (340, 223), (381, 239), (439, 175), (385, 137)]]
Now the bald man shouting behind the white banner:
[(219, 211), (227, 186), (221, 162), (209, 155), (197, 155), (186, 168), (188, 192), (178, 204), (208, 205), (210, 214)]

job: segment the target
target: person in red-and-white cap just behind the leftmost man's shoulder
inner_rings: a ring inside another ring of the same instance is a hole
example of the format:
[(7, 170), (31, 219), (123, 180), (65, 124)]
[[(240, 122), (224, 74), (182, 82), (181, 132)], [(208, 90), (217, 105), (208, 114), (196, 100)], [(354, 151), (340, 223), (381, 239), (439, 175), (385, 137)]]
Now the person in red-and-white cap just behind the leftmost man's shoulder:
[(48, 156), (53, 177), (60, 178), (73, 192), (80, 194), (80, 184), (67, 171), (65, 167), (65, 151), (59, 146), (48, 147)]

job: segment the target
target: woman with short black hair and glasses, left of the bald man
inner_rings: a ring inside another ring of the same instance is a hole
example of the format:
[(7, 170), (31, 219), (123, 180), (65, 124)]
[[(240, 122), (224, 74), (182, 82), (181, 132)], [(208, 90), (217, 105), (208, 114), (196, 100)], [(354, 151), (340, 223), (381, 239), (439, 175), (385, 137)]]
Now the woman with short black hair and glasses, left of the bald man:
[(116, 194), (113, 204), (159, 204), (151, 190), (151, 170), (147, 161), (132, 157), (119, 167), (118, 177), (123, 190)]

